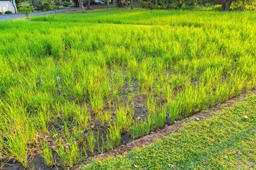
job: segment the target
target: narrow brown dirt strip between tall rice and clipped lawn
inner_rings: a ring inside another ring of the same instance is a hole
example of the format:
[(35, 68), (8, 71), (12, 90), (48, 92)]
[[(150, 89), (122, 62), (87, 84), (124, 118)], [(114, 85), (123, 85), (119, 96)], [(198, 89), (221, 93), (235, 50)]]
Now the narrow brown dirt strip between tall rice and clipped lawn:
[(129, 152), (132, 149), (134, 149), (135, 147), (145, 147), (146, 145), (150, 145), (150, 144), (154, 143), (156, 140), (162, 139), (163, 137), (170, 135), (172, 132), (178, 132), (178, 130), (181, 127), (183, 127), (183, 125), (190, 122), (191, 120), (201, 121), (201, 120), (206, 120), (207, 118), (210, 118), (211, 116), (215, 115), (216, 111), (221, 110), (222, 105), (227, 105), (228, 107), (233, 106), (235, 101), (238, 101), (241, 98), (244, 98), (245, 96), (247, 96), (249, 94), (256, 94), (256, 90), (242, 93), (242, 94), (240, 94), (240, 96), (231, 98), (230, 100), (220, 103), (213, 108), (208, 108), (206, 111), (201, 111), (199, 113), (196, 113), (195, 115), (191, 115), (188, 118), (177, 121), (173, 125), (169, 125), (168, 127), (164, 128), (162, 130), (159, 130), (158, 132), (151, 132), (150, 135), (146, 135), (142, 138), (139, 138), (138, 140), (129, 142), (127, 145), (121, 145), (109, 152), (98, 154), (95, 157), (89, 157), (84, 162), (73, 167), (73, 169), (82, 169), (82, 166), (89, 164), (94, 159), (105, 159), (110, 156), (117, 156), (119, 154), (124, 154), (124, 152)]

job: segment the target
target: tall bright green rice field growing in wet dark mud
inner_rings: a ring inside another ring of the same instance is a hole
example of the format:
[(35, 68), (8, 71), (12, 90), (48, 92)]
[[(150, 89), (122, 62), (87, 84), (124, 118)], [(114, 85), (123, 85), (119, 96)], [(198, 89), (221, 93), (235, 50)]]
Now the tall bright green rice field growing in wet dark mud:
[(0, 22), (0, 162), (68, 169), (254, 90), (255, 28), (138, 9)]

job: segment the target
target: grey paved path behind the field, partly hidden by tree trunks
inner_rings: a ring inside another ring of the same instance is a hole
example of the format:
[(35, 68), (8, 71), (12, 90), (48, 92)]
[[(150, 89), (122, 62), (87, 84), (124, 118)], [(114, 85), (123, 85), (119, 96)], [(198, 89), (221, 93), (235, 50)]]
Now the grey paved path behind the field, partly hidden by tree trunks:
[[(114, 6), (110, 6), (114, 7)], [(86, 7), (85, 7), (86, 8)], [(95, 8), (107, 8), (107, 6), (91, 6), (92, 9)], [(60, 9), (57, 10), (57, 13), (63, 13), (63, 12), (68, 12), (68, 11), (78, 11), (80, 8), (68, 8), (68, 9)], [(29, 16), (41, 16), (41, 15), (46, 15), (50, 13), (55, 13), (55, 11), (41, 11), (41, 12), (35, 12), (31, 13)], [(24, 18), (26, 17), (23, 13), (17, 13), (17, 14), (10, 14), (10, 15), (1, 15), (0, 16), (0, 21), (5, 21), (5, 20), (12, 20), (16, 18)]]

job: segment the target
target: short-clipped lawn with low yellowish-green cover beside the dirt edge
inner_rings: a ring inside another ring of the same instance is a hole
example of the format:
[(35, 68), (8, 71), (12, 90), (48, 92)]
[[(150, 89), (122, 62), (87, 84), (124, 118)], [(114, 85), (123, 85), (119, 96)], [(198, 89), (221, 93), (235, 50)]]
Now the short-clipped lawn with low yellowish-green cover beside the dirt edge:
[(255, 169), (255, 113), (256, 95), (251, 94), (154, 145), (94, 160), (82, 169)]

